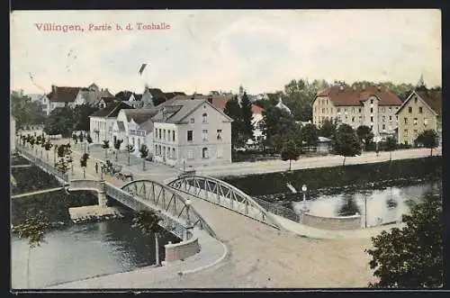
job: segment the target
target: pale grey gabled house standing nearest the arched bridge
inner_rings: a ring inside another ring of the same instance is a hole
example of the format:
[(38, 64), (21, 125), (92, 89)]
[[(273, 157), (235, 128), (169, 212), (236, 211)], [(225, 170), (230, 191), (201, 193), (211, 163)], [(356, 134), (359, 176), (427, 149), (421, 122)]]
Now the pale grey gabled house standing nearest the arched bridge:
[(232, 119), (207, 99), (178, 99), (153, 118), (155, 160), (176, 167), (231, 162)]

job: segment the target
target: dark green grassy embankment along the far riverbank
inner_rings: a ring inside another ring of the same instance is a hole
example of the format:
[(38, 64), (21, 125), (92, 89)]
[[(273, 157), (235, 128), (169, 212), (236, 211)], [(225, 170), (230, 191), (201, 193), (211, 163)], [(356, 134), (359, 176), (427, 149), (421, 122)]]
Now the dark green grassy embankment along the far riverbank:
[(247, 194), (262, 195), (285, 193), (287, 191), (286, 183), (291, 183), (300, 192), (303, 184), (313, 190), (346, 185), (367, 185), (391, 179), (437, 181), (441, 177), (441, 172), (442, 157), (437, 156), (345, 167), (317, 167), (292, 172), (222, 176), (220, 179), (235, 185)]

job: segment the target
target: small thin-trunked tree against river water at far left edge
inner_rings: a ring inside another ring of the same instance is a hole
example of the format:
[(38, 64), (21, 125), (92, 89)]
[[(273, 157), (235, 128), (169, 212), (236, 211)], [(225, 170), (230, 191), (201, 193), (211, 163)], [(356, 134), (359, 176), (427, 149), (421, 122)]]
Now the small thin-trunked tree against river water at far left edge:
[(31, 249), (40, 247), (41, 243), (45, 243), (45, 234), (50, 228), (51, 225), (48, 219), (42, 212), (39, 212), (37, 215), (28, 217), (22, 223), (13, 226), (11, 229), (19, 238), (28, 240), (27, 285), (30, 283)]

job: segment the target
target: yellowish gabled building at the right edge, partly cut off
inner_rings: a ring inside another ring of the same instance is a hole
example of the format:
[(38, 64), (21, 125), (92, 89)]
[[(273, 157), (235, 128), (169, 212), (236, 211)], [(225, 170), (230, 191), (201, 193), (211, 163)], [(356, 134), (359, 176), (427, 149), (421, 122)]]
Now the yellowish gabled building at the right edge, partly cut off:
[(414, 144), (419, 133), (437, 131), (442, 142), (442, 92), (413, 91), (397, 111), (401, 144)]

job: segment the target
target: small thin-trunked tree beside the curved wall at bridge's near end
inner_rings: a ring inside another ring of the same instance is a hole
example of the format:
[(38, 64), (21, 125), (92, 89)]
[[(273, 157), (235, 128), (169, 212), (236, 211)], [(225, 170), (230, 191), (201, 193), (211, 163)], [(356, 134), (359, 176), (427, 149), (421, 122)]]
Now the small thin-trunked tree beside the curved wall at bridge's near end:
[(135, 212), (131, 227), (139, 229), (146, 236), (155, 236), (156, 265), (159, 266), (159, 237), (164, 233), (164, 229), (159, 225), (162, 219), (155, 212), (142, 210)]

